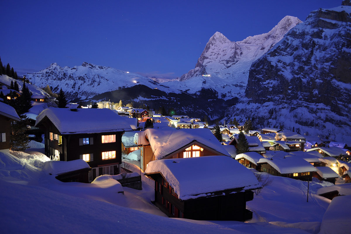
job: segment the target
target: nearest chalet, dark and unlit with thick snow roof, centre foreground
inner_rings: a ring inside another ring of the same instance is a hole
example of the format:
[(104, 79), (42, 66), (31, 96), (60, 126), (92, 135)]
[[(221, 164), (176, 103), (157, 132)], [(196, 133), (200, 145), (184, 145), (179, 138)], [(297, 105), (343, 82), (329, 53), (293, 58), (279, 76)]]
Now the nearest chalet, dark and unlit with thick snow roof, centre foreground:
[[(211, 176), (208, 168), (211, 165)], [(149, 163), (145, 175), (155, 181), (155, 205), (172, 218), (252, 219), (246, 201), (260, 187), (256, 176), (226, 156), (165, 159)], [(240, 179), (238, 179), (240, 178)]]

